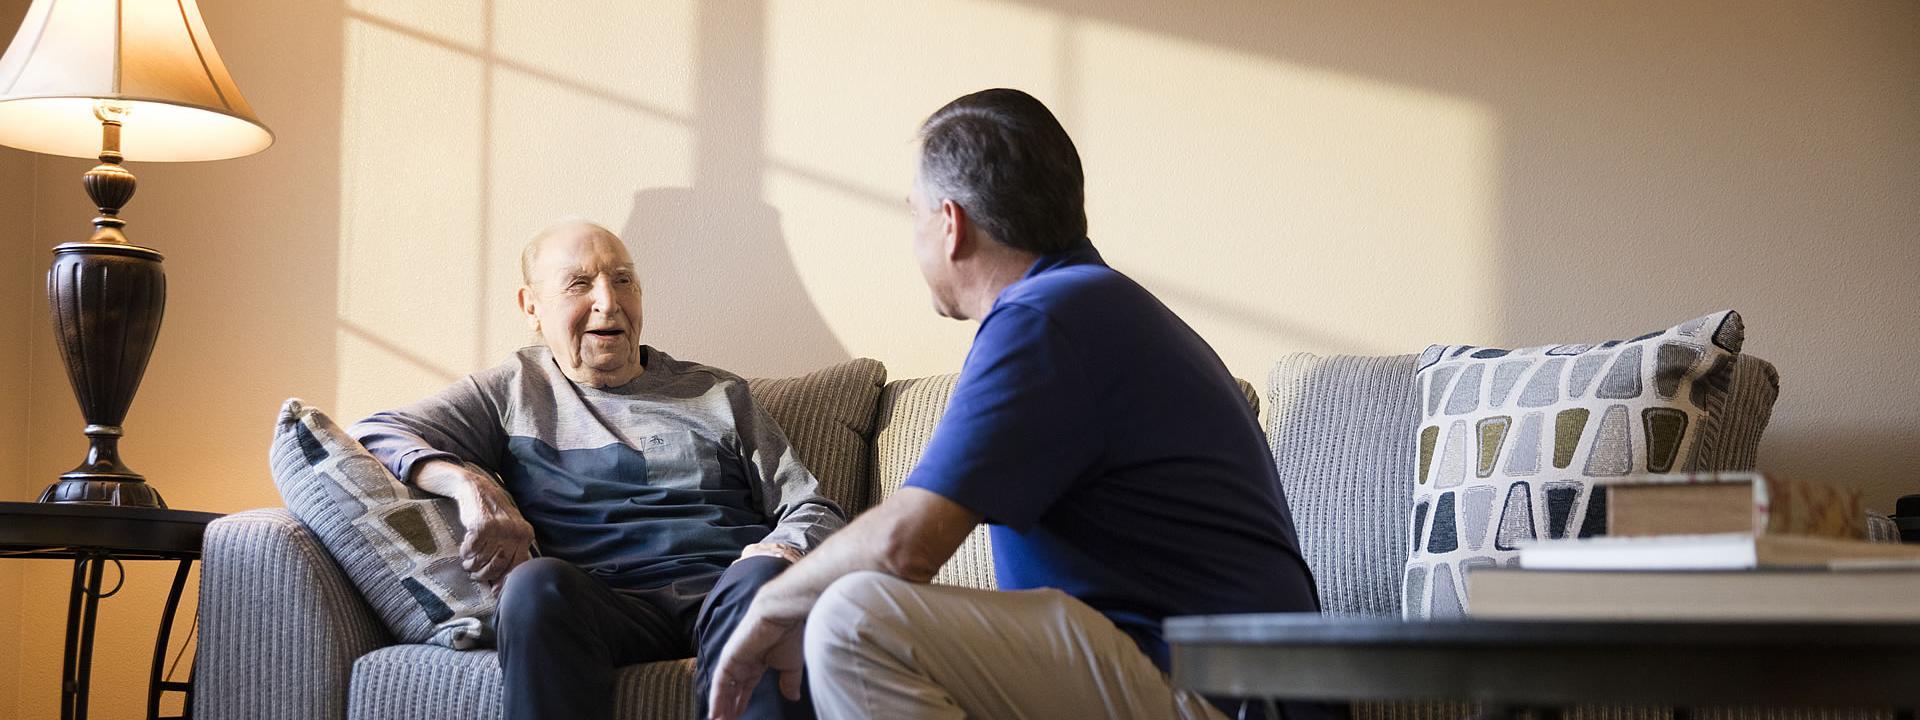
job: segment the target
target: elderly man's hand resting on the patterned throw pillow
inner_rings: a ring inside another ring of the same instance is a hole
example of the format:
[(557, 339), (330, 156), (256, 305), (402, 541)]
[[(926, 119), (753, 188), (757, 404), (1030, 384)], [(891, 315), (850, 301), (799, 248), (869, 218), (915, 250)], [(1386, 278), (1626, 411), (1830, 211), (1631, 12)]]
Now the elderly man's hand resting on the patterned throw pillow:
[(493, 478), (449, 461), (426, 461), (413, 470), (413, 482), (422, 490), (453, 497), (461, 509), (467, 538), (461, 541), (461, 566), (467, 574), (499, 593), (507, 572), (526, 563), (534, 543), (534, 526), (526, 524), (513, 497)]

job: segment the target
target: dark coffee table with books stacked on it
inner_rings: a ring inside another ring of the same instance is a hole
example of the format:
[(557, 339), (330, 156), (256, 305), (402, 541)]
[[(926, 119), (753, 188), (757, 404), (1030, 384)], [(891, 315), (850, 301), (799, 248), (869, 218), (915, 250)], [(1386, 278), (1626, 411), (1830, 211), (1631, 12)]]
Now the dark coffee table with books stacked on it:
[[(1920, 599), (1916, 599), (1920, 601)], [(1300, 701), (1920, 707), (1920, 624), (1167, 618), (1173, 684)]]

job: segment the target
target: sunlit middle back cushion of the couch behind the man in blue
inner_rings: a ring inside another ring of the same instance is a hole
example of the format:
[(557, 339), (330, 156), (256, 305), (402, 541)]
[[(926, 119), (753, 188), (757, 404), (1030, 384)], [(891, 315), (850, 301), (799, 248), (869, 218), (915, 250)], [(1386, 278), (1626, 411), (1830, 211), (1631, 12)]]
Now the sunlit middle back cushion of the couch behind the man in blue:
[[(920, 465), (920, 453), (925, 451), (927, 440), (933, 440), (933, 428), (941, 424), (941, 415), (947, 413), (947, 396), (954, 392), (954, 382), (958, 380), (958, 374), (935, 374), (889, 382), (881, 392), (879, 430), (874, 436), (872, 503), (877, 505), (893, 497), (906, 484), (906, 476), (914, 472), (914, 465)], [(1235, 382), (1240, 384), (1240, 394), (1254, 407), (1254, 415), (1260, 415), (1260, 394), (1254, 386), (1246, 380)], [(960, 549), (933, 576), (933, 582), (979, 589), (996, 588), (993, 578), (993, 541), (985, 524), (973, 528), (966, 541), (960, 543)]]

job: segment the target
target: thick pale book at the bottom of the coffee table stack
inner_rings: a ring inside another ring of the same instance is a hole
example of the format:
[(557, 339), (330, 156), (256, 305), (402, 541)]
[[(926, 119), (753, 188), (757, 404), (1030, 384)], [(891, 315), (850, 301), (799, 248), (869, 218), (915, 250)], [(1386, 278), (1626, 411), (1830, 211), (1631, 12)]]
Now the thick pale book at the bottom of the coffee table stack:
[(1496, 620), (1920, 620), (1920, 568), (1519, 570), (1467, 574), (1467, 612)]

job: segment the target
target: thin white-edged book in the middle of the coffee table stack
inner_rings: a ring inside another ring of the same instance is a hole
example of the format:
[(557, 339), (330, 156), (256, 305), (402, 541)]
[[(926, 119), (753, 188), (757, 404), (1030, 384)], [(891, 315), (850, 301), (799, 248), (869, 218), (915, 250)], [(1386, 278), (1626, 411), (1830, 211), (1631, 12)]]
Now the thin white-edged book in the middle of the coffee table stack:
[(1751, 570), (1910, 566), (1920, 545), (1814, 536), (1707, 536), (1542, 540), (1521, 545), (1526, 570)]

